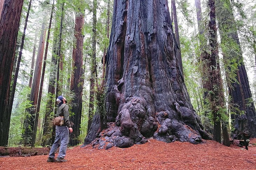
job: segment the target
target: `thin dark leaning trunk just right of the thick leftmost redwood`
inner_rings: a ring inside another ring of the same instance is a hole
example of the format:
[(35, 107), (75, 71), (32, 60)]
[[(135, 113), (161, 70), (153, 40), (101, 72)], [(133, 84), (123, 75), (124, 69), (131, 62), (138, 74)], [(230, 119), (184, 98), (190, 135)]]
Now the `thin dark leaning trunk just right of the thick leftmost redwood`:
[(28, 23), (28, 16), (29, 16), (30, 8), (31, 8), (31, 2), (32, 2), (32, 0), (29, 1), (29, 5), (28, 5), (27, 16), (25, 19), (25, 25), (24, 25), (24, 29), (23, 29), (22, 38), (21, 38), (19, 57), (18, 57), (16, 71), (15, 71), (13, 84), (12, 84), (12, 91), (11, 91), (9, 101), (8, 101), (8, 115), (12, 114), (12, 105), (13, 105), (15, 89), (16, 89), (16, 84), (17, 84), (17, 79), (18, 79), (18, 74), (19, 74), (19, 69), (20, 69), (20, 61), (21, 61), (21, 57), (22, 57), (22, 50), (24, 47), (24, 41), (25, 41), (25, 35), (26, 35), (26, 29), (27, 29), (27, 23)]

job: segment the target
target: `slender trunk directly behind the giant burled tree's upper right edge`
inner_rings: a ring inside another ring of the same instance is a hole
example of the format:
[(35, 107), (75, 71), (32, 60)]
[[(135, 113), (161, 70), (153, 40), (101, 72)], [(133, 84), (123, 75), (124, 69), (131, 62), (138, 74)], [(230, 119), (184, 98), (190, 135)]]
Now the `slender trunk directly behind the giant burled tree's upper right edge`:
[(176, 3), (175, 0), (171, 0), (171, 5), (173, 7), (173, 19), (174, 19), (174, 28), (175, 28), (175, 39), (178, 44), (177, 58), (180, 64), (180, 69), (183, 74), (182, 58), (181, 58), (181, 44), (180, 44), (180, 35), (178, 34), (178, 19), (176, 12)]

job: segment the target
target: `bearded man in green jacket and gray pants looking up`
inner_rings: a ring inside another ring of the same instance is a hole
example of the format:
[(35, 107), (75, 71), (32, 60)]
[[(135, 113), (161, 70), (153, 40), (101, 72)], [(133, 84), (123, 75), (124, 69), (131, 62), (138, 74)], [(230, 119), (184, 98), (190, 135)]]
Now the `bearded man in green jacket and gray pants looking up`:
[[(59, 109), (57, 111), (56, 116), (63, 116), (64, 124), (62, 126), (56, 126), (56, 136), (53, 146), (50, 150), (47, 162), (67, 162), (67, 160), (65, 160), (64, 157), (66, 156), (66, 151), (68, 147), (68, 132), (72, 133), (73, 129), (71, 128), (69, 121), (68, 105), (66, 104), (67, 99), (63, 96), (59, 96), (56, 101), (59, 104)], [(55, 160), (55, 151), (58, 149), (58, 147), (60, 147), (60, 151)]]

